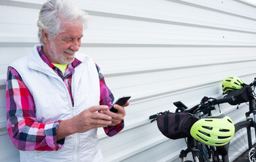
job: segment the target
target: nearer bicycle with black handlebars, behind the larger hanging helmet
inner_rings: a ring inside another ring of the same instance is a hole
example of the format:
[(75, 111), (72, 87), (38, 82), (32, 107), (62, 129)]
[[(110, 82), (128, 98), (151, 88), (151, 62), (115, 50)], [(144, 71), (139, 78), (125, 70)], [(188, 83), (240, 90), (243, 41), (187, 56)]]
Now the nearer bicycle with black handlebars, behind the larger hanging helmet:
[[(233, 101), (234, 97), (227, 97), (224, 99), (214, 99), (204, 97), (200, 104), (195, 105), (194, 107), (188, 109), (184, 103), (181, 101), (177, 101), (173, 103), (177, 109), (175, 112), (186, 112), (196, 117), (197, 119), (201, 119), (203, 117), (211, 116), (211, 111), (215, 110), (215, 105), (219, 105), (221, 103), (228, 103), (228, 101)], [(152, 121), (157, 120), (159, 116), (167, 113), (169, 111), (156, 113), (154, 115), (150, 115), (149, 119)], [(158, 127), (159, 128), (159, 127)], [(192, 153), (194, 162), (203, 162), (203, 161), (222, 161), (228, 162), (227, 148), (224, 146), (209, 146), (202, 142), (199, 142), (192, 136), (188, 136), (185, 138), (187, 148), (186, 150), (182, 150), (179, 154), (179, 158), (182, 159), (182, 162), (190, 162), (187, 160), (188, 153)]]

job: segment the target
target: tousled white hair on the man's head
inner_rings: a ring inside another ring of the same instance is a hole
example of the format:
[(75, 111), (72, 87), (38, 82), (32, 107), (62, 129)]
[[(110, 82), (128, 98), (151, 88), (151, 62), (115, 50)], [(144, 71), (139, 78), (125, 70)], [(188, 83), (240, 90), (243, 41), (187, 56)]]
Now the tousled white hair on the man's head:
[(89, 20), (88, 14), (73, 5), (69, 0), (49, 0), (45, 2), (39, 12), (38, 37), (40, 43), (43, 43), (42, 29), (49, 38), (55, 38), (60, 32), (64, 32), (60, 28), (61, 22), (81, 22), (83, 28), (87, 26)]

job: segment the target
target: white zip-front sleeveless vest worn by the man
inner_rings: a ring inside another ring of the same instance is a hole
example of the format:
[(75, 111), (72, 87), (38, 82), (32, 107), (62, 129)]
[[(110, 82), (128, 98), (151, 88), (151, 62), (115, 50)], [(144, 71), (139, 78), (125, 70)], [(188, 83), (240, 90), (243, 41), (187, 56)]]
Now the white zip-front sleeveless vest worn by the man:
[[(72, 74), (74, 107), (64, 82), (41, 59), (37, 46), (28, 56), (12, 63), (33, 95), (38, 122), (69, 119), (83, 109), (99, 105), (100, 81), (95, 63), (87, 55), (77, 53), (76, 57), (82, 63)], [(20, 161), (103, 161), (97, 129), (67, 136), (59, 151), (20, 151)]]

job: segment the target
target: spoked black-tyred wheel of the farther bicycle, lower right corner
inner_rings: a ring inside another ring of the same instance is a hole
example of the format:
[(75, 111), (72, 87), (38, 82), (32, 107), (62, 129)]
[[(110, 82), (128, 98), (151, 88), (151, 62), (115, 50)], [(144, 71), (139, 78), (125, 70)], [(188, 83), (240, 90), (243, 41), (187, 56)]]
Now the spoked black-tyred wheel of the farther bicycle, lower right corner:
[[(242, 159), (248, 159), (249, 142), (247, 128), (251, 130), (252, 144), (255, 144), (255, 128), (251, 121), (241, 121), (235, 124), (235, 134), (228, 147), (228, 158), (230, 161), (239, 161)], [(242, 156), (240, 156), (242, 155)]]

